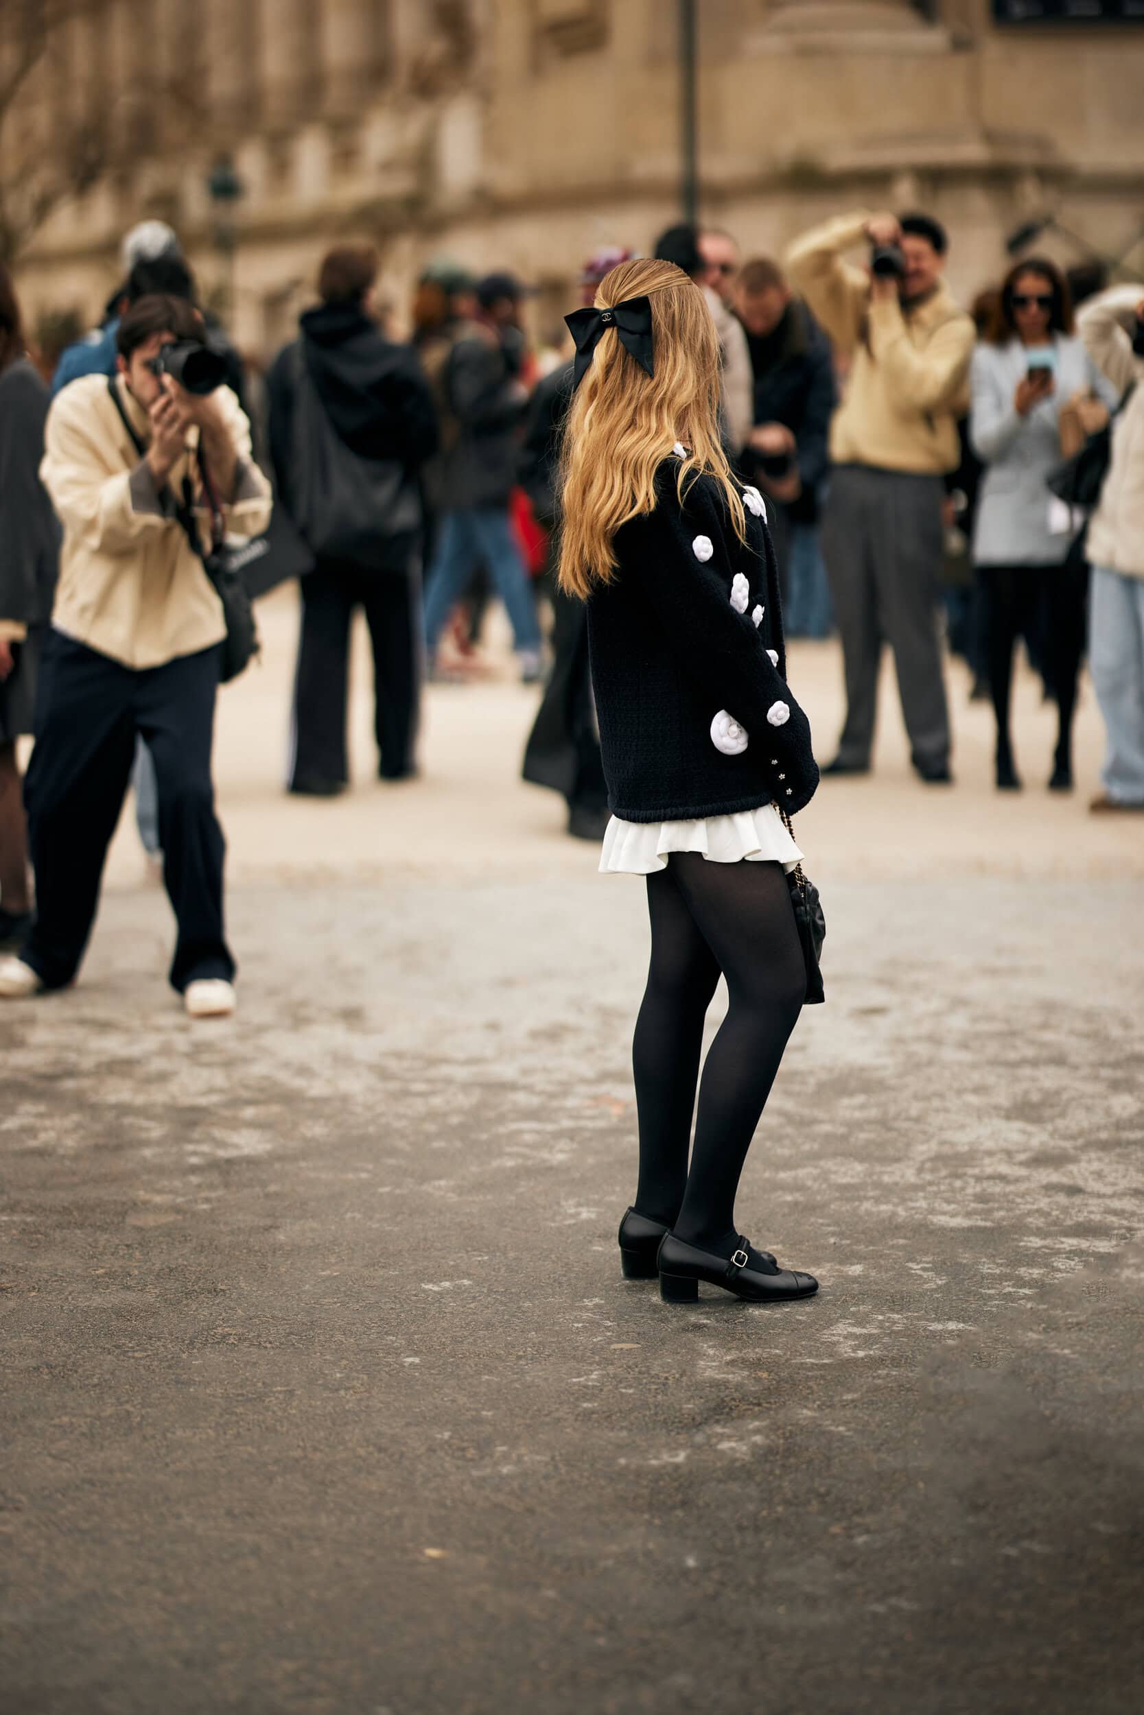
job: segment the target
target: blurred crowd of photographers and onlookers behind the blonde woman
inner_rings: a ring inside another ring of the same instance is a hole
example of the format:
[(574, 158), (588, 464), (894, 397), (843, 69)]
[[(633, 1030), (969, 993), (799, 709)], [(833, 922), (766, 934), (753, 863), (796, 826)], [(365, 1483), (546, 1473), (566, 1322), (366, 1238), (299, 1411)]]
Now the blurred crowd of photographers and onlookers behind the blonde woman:
[[(580, 302), (633, 254), (587, 257)], [(954, 782), (952, 652), (969, 695), (993, 703), (996, 787), (1021, 789), (1010, 686), (1024, 645), (1058, 710), (1045, 779), (1067, 792), (1087, 652), (1106, 727), (1089, 808), (1144, 809), (1144, 286), (1026, 254), (960, 307), (926, 211), (839, 216), (786, 257), (676, 225), (655, 254), (715, 319), (726, 449), (768, 502), (786, 631), (840, 641), (846, 722), (823, 773), (870, 772), (888, 645), (919, 780)], [(0, 947), (24, 948), (0, 993), (70, 981), (130, 773), (180, 921), (172, 981), (214, 983), (226, 1010), (209, 734), (204, 767), (185, 763), (216, 683), (208, 698), (187, 664), (220, 641), (187, 600), (196, 556), (211, 575), (230, 545), (256, 600), (300, 580), (290, 792), (348, 785), (357, 609), (377, 772), (398, 782), (417, 773), (424, 677), (480, 676), (499, 600), (520, 677), (542, 686), (525, 777), (566, 799), (571, 835), (602, 835), (585, 621), (552, 578), (573, 346), (563, 328), (530, 334), (525, 281), (448, 261), (424, 271), (410, 338), (396, 338), (376, 252), (338, 245), (262, 374), (202, 310), (168, 226), (132, 228), (122, 262), (101, 324), (58, 353), (29, 352), (0, 271)], [(165, 358), (184, 346), (208, 353), (199, 370), (194, 352)], [(84, 746), (103, 713), (113, 737)], [(17, 741), (33, 731), (43, 755), (22, 792)], [(87, 851), (67, 928), (43, 923), (46, 895), (75, 890), (74, 876), (45, 882), (60, 842), (69, 861), (75, 842)]]

